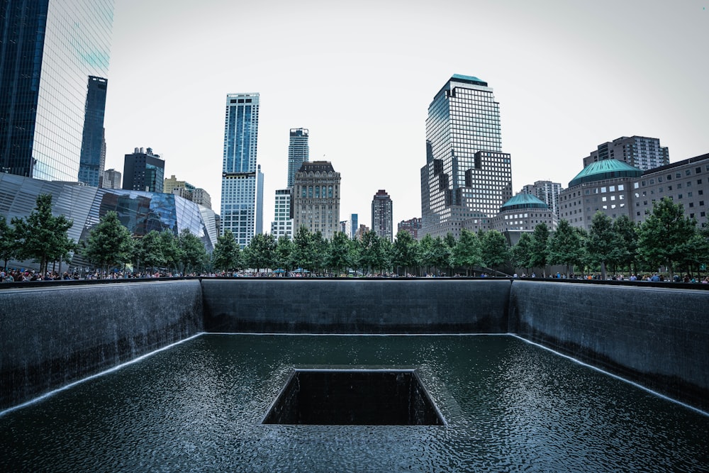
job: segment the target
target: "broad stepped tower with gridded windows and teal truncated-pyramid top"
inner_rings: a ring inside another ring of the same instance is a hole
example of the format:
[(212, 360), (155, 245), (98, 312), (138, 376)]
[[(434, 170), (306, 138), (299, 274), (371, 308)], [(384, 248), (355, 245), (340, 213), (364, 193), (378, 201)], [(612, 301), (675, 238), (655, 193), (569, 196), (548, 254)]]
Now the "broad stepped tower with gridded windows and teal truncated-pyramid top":
[(457, 238), (461, 228), (484, 226), (511, 197), (512, 167), (502, 152), (493, 89), (454, 74), (428, 107), (420, 235)]

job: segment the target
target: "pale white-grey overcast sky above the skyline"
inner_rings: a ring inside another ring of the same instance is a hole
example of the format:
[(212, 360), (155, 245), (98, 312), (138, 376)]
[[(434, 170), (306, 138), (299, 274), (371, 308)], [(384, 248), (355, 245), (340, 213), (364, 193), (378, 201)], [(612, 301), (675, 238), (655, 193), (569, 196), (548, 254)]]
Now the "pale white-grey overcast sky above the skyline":
[(709, 152), (709, 0), (116, 0), (106, 169), (151, 147), (219, 213), (225, 95), (259, 92), (264, 230), (290, 128), (342, 175), (340, 220), (420, 217), (425, 118), (452, 74), (500, 103), (513, 190), (563, 187), (620, 136)]

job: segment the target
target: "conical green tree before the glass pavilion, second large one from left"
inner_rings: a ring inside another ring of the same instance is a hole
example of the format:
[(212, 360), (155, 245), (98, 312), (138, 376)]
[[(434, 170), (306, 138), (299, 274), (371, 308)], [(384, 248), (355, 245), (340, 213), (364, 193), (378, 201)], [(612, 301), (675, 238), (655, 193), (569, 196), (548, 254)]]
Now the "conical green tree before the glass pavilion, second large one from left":
[(133, 240), (128, 228), (118, 220), (118, 213), (108, 211), (89, 232), (82, 254), (92, 265), (108, 272), (130, 261)]

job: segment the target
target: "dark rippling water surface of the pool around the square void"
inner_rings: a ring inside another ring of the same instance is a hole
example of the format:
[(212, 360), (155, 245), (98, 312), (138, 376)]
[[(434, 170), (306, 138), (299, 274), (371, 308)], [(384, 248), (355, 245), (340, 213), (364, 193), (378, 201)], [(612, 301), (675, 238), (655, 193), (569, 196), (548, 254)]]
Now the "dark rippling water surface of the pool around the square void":
[[(418, 367), (448, 425), (262, 425), (294, 367)], [(202, 335), (0, 416), (3, 472), (708, 469), (709, 416), (503, 335)]]

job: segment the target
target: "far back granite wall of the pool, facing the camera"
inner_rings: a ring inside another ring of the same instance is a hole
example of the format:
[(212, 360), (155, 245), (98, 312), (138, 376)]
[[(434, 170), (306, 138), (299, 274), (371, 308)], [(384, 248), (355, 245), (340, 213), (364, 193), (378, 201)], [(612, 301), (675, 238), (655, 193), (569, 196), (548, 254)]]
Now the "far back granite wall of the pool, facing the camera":
[(220, 333), (506, 333), (508, 279), (203, 279)]

